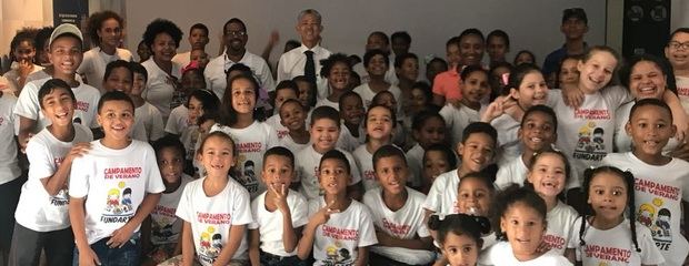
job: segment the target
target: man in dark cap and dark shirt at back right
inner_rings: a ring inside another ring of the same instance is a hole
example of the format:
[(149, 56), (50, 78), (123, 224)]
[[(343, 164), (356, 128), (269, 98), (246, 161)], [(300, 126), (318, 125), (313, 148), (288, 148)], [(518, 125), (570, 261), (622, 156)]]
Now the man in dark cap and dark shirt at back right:
[(542, 72), (546, 80), (549, 81), (548, 84), (552, 84), (550, 81), (555, 81), (553, 74), (567, 55), (580, 55), (588, 49), (588, 44), (583, 41), (583, 35), (589, 31), (588, 23), (586, 11), (581, 8), (570, 8), (562, 11), (560, 32), (565, 34), (565, 44), (549, 53), (543, 62)]

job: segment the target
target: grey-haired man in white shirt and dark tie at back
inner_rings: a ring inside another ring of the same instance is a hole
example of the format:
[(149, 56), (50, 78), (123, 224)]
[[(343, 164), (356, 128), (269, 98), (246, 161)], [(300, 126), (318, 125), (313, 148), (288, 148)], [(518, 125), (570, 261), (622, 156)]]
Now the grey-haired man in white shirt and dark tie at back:
[(318, 99), (328, 96), (328, 80), (317, 75), (320, 73), (320, 61), (330, 57), (328, 49), (320, 47), (320, 33), (323, 30), (320, 13), (313, 9), (299, 12), (297, 32), (301, 37), (301, 47), (290, 50), (280, 57), (278, 63), (278, 81), (291, 80), (299, 75), (317, 85)]

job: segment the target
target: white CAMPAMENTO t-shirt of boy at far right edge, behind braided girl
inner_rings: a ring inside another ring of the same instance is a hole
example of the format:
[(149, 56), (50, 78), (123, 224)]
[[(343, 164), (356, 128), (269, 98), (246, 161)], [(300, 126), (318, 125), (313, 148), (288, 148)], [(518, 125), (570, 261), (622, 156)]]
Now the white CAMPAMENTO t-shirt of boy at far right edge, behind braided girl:
[(601, 164), (631, 171), (637, 222), (650, 228), (668, 265), (682, 265), (689, 253), (680, 234), (681, 201), (689, 201), (689, 163), (672, 158), (666, 165), (650, 165), (628, 152), (608, 154)]

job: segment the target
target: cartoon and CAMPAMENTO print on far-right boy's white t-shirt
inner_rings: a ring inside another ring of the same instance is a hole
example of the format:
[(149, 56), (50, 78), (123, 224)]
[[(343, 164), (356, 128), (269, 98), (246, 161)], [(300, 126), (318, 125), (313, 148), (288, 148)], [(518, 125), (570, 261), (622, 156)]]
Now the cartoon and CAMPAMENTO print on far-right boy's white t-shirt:
[(669, 250), (672, 245), (670, 221), (672, 215), (677, 214), (672, 214), (665, 207), (665, 203), (666, 201), (680, 201), (679, 187), (637, 178), (635, 190), (655, 196), (651, 202), (641, 203), (637, 212), (637, 221), (651, 231), (658, 249), (661, 252)]

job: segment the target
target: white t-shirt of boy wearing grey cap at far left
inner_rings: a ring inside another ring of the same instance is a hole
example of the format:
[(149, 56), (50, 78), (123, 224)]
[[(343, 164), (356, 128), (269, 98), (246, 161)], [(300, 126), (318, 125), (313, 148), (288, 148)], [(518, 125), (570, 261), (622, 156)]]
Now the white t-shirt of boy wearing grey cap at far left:
[[(41, 106), (38, 102), (38, 91), (43, 83), (52, 78), (46, 78), (42, 80), (36, 80), (28, 82), (24, 89), (21, 90), (17, 105), (14, 106), (14, 114), (36, 120), (36, 127), (33, 133), (38, 133), (51, 124), (50, 120), (46, 119)], [(82, 125), (91, 129), (99, 127), (96, 121), (96, 113), (98, 108), (98, 101), (100, 100), (100, 92), (93, 86), (79, 83), (79, 86), (72, 88), (74, 98), (77, 98), (77, 108), (74, 109), (74, 121), (81, 121)]]

